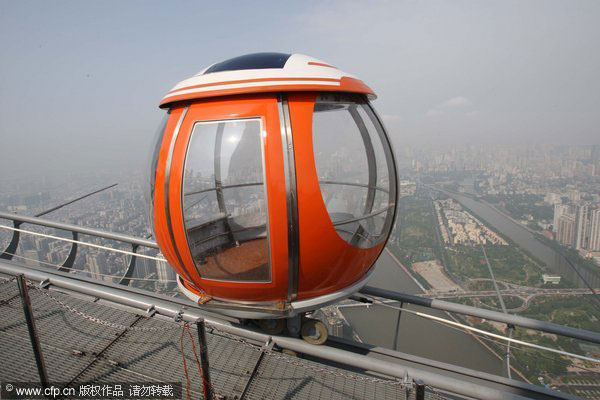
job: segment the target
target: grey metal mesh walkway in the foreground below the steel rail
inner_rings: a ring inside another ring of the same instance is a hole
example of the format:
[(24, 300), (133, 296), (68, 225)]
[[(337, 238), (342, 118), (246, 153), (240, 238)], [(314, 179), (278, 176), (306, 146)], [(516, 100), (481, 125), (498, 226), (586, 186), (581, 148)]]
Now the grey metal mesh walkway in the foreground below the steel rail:
[[(39, 382), (17, 284), (2, 282), (0, 381)], [(30, 289), (29, 293), (51, 381), (184, 384), (183, 344), (191, 397), (202, 398), (192, 349), (192, 343), (198, 346), (195, 326), (190, 326), (192, 339), (181, 325), (163, 317), (147, 318), (91, 298), (50, 292), (73, 309), (115, 324), (106, 326), (67, 310), (41, 290)], [(207, 341), (212, 383), (220, 398), (240, 399), (244, 390), (247, 399), (407, 398), (404, 388), (393, 381), (369, 380), (361, 374), (281, 353), (267, 352), (261, 358), (259, 346), (211, 333), (210, 329)], [(185, 396), (185, 390), (183, 393)], [(430, 392), (426, 398), (441, 396)]]

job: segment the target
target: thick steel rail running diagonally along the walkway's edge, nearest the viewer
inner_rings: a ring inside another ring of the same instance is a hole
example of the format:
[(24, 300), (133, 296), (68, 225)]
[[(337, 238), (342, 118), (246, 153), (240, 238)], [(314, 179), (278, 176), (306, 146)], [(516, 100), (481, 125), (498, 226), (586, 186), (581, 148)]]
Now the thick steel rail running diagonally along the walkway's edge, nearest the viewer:
[[(553, 390), (523, 384), (519, 381), (496, 380), (493, 387), (486, 386), (487, 381), (476, 383), (465, 379), (446, 376), (442, 373), (401, 365), (391, 361), (375, 359), (357, 352), (331, 347), (328, 345), (315, 346), (301, 339), (286, 336), (269, 336), (249, 328), (236, 326), (235, 320), (227, 321), (221, 316), (216, 316), (202, 310), (191, 301), (173, 299), (155, 293), (144, 292), (122, 285), (98, 282), (84, 277), (50, 270), (43, 267), (25, 267), (15, 262), (0, 261), (0, 272), (8, 275), (25, 274), (33, 281), (41, 282), (44, 287), (54, 286), (77, 293), (87, 294), (104, 300), (134, 307), (142, 312), (155, 312), (170, 318), (188, 322), (196, 322), (204, 318), (208, 325), (240, 338), (256, 343), (265, 343), (269, 338), (275, 345), (282, 349), (289, 349), (318, 359), (333, 361), (365, 371), (404, 379), (409, 376), (413, 380), (421, 380), (427, 385), (438, 390), (459, 394), (462, 396), (500, 400), (500, 399), (576, 399), (577, 397)], [(46, 289), (44, 289), (46, 290)], [(460, 374), (460, 368), (457, 368)], [(456, 376), (456, 374), (453, 374)], [(470, 376), (471, 378), (473, 375)], [(488, 382), (489, 383), (489, 382)], [(498, 388), (500, 387), (500, 388)]]

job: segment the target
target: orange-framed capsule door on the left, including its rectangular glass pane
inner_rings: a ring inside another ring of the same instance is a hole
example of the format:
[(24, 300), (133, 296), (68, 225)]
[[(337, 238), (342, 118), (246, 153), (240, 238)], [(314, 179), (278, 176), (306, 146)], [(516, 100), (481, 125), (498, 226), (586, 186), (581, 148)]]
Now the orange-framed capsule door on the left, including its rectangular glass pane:
[(181, 266), (178, 273), (194, 292), (255, 303), (285, 299), (286, 191), (277, 98), (196, 101), (171, 115), (177, 122), (171, 132), (167, 127), (159, 161), (164, 168), (157, 173), (167, 194), (162, 224), (155, 214), (155, 228), (160, 225), (165, 241), (174, 244), (165, 256)]

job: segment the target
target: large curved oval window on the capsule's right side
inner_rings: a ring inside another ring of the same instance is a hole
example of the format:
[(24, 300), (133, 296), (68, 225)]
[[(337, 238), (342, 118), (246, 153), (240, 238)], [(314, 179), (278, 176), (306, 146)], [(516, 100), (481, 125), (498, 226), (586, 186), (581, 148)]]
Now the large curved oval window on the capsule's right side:
[(362, 96), (320, 95), (313, 146), (323, 202), (336, 232), (373, 247), (391, 228), (396, 173), (383, 127)]

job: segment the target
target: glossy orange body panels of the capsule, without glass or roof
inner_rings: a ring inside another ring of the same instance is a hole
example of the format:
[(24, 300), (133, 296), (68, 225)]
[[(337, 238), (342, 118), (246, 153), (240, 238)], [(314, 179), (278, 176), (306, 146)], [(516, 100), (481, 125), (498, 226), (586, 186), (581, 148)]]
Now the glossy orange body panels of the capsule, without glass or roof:
[[(335, 231), (323, 202), (313, 154), (312, 115), (316, 93), (288, 95), (298, 197), (300, 260), (298, 299), (308, 299), (341, 290), (360, 280), (373, 265), (385, 242), (360, 249), (346, 243)], [(160, 148), (155, 185), (155, 235), (164, 256), (184, 278), (191, 291), (232, 301), (285, 301), (288, 289), (288, 232), (283, 145), (277, 97), (252, 94), (199, 99), (189, 109), (174, 146), (169, 182), (169, 205), (175, 243), (171, 241), (165, 212), (165, 172), (169, 146), (185, 105), (175, 104)], [(203, 279), (188, 248), (182, 212), (185, 153), (196, 122), (261, 118), (265, 137), (265, 176), (271, 282), (224, 282)], [(176, 249), (183, 265), (180, 265)]]

